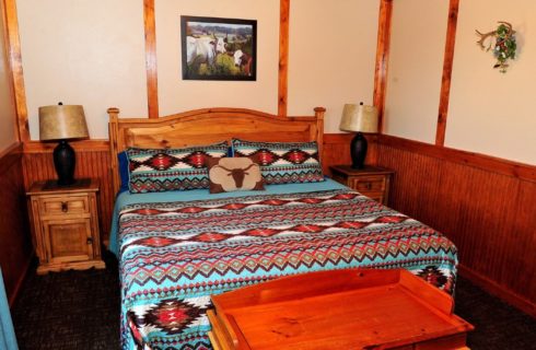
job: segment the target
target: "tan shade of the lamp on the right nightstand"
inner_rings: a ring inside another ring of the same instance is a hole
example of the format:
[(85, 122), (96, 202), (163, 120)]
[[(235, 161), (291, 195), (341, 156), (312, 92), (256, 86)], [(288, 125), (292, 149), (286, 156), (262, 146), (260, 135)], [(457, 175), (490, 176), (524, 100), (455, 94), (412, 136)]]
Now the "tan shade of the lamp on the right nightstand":
[(377, 132), (377, 109), (363, 104), (346, 104), (339, 129), (342, 131)]

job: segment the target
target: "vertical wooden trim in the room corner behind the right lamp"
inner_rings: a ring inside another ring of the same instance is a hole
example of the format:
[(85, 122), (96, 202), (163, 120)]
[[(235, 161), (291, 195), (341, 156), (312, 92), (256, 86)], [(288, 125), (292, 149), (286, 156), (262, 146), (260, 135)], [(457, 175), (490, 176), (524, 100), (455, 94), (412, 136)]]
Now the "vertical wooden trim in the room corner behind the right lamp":
[(377, 108), (377, 130), (383, 132), (385, 93), (387, 90), (387, 68), (391, 47), (391, 20), (393, 0), (382, 0), (380, 3), (380, 19), (377, 24), (376, 66), (374, 68), (374, 96), (373, 103)]

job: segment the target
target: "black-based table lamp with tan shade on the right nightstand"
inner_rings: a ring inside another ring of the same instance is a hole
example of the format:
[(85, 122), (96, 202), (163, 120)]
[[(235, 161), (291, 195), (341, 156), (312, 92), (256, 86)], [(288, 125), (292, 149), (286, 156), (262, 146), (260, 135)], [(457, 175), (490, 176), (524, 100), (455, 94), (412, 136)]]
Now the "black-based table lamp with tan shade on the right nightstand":
[(363, 168), (366, 158), (366, 139), (362, 132), (377, 132), (377, 109), (374, 106), (346, 104), (339, 129), (357, 131), (350, 143), (352, 168)]

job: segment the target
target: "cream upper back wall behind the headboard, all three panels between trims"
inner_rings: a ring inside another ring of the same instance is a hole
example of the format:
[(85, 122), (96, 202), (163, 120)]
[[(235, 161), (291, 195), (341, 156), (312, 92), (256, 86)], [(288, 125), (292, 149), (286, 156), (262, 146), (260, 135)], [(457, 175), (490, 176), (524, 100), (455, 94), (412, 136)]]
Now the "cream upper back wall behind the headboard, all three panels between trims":
[[(339, 132), (345, 103), (372, 103), (380, 0), (292, 0), (289, 115), (327, 107)], [(42, 105), (84, 105), (91, 137), (107, 138), (106, 108), (147, 116), (143, 7), (131, 0), (18, 0), (32, 139)], [(279, 0), (155, 1), (159, 109), (230, 106), (277, 114)], [(257, 20), (257, 81), (183, 81), (180, 15)]]

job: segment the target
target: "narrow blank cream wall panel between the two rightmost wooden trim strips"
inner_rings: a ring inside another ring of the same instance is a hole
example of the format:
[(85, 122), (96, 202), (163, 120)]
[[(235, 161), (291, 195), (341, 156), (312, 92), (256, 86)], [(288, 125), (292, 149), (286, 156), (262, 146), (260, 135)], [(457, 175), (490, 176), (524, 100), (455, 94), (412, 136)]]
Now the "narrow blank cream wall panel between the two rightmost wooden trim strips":
[(448, 0), (394, 0), (384, 133), (435, 141)]

